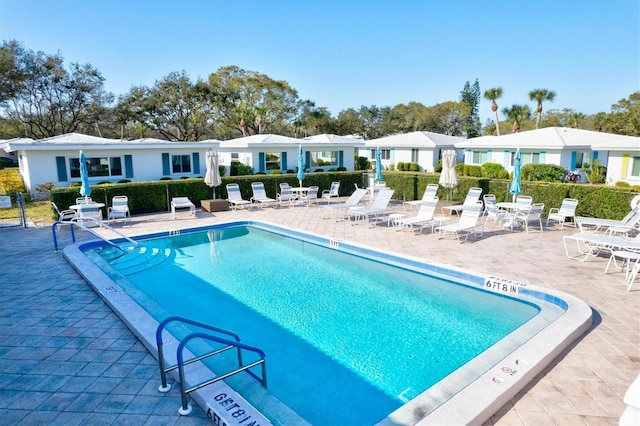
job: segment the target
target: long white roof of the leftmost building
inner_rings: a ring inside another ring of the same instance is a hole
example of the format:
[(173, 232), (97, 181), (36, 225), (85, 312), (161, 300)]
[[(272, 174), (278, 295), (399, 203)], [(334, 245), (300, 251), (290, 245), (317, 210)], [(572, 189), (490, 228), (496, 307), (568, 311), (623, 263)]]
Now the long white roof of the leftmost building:
[[(127, 148), (144, 149), (150, 147), (185, 148), (193, 147), (211, 148), (217, 147), (219, 141), (207, 140), (203, 142), (171, 142), (163, 139), (142, 138), (131, 141), (121, 139), (100, 138), (97, 136), (83, 135), (81, 133), (66, 133), (64, 135), (52, 136), (44, 139), (12, 139), (8, 141), (7, 147), (11, 151), (21, 150), (67, 150), (67, 149), (97, 149), (97, 148)], [(7, 148), (5, 148), (7, 149)]]

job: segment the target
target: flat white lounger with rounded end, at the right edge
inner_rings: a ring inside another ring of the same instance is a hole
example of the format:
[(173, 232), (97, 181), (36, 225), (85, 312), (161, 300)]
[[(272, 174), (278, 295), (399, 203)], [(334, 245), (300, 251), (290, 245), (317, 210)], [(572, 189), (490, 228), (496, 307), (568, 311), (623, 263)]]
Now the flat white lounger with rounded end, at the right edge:
[[(640, 251), (640, 234), (634, 238), (619, 237), (616, 235), (596, 234), (594, 232), (578, 232), (562, 237), (564, 251), (567, 257), (585, 261), (591, 256), (597, 256), (601, 252), (610, 253), (612, 250)], [(576, 243), (577, 254), (571, 253), (569, 244)]]

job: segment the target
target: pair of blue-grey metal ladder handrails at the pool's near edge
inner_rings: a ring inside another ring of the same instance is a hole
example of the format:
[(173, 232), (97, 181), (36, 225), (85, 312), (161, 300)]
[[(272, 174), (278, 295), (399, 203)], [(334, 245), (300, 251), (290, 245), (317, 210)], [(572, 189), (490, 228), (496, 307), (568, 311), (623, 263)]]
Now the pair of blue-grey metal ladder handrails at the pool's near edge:
[[(224, 336), (227, 336), (229, 338), (226, 337), (219, 337), (216, 336), (214, 334), (211, 333), (203, 333), (203, 332), (195, 332), (195, 333), (191, 333), (189, 335), (187, 335), (184, 339), (182, 339), (180, 341), (180, 343), (178, 344), (178, 349), (177, 349), (177, 353), (176, 353), (176, 359), (177, 359), (177, 364), (176, 365), (172, 365), (170, 367), (165, 367), (165, 359), (164, 359), (164, 352), (163, 352), (163, 342), (162, 342), (162, 331), (166, 328), (167, 324), (169, 324), (170, 322), (180, 322), (183, 324), (191, 324), (191, 325), (195, 325), (197, 327), (200, 327), (202, 329), (205, 330), (209, 330), (209, 331), (213, 331), (217, 334), (222, 334)], [(231, 339), (233, 340), (231, 340)], [(203, 340), (208, 340), (211, 342), (216, 342), (216, 343), (220, 343), (226, 346), (223, 346), (221, 348), (215, 349), (211, 352), (208, 352), (206, 354), (200, 355), (200, 356), (196, 356), (195, 358), (189, 359), (189, 360), (185, 360), (184, 359), (184, 348), (187, 345), (187, 343), (193, 339), (203, 339)], [(247, 373), (249, 373), (249, 375), (251, 377), (253, 377), (255, 380), (257, 380), (262, 386), (264, 386), (265, 388), (267, 387), (267, 367), (266, 367), (266, 363), (265, 363), (265, 353), (253, 346), (249, 346), (249, 345), (245, 345), (244, 343), (240, 343), (240, 336), (238, 336), (236, 333), (229, 331), (229, 330), (225, 330), (223, 328), (218, 328), (218, 327), (214, 327), (212, 325), (208, 325), (208, 324), (204, 324), (198, 321), (194, 321), (192, 319), (189, 318), (184, 318), (184, 317), (179, 317), (179, 316), (171, 316), (168, 317), (167, 319), (165, 319), (164, 321), (162, 321), (159, 325), (158, 328), (156, 329), (156, 344), (158, 345), (158, 362), (160, 363), (160, 379), (162, 381), (162, 384), (160, 387), (158, 387), (158, 390), (160, 392), (169, 392), (171, 390), (171, 386), (167, 384), (167, 373), (170, 371), (175, 370), (176, 368), (178, 369), (178, 375), (179, 375), (179, 382), (180, 382), (180, 395), (182, 397), (182, 406), (180, 407), (180, 409), (178, 410), (178, 413), (180, 413), (180, 415), (182, 416), (186, 416), (188, 414), (191, 413), (191, 406), (189, 405), (188, 399), (187, 399), (187, 395), (195, 390), (201, 389), (205, 386), (211, 385), (213, 383), (216, 383), (220, 380), (224, 380), (228, 377), (231, 377), (235, 374), (241, 373), (243, 371), (246, 371)], [(191, 386), (190, 388), (187, 388), (186, 385), (186, 381), (185, 381), (185, 374), (184, 374), (184, 367), (186, 365), (189, 364), (193, 364), (194, 362), (198, 362), (201, 361), (205, 358), (209, 358), (211, 356), (214, 355), (218, 355), (221, 354), (223, 352), (228, 351), (229, 349), (233, 349), (236, 348), (237, 352), (238, 352), (238, 368), (236, 368), (233, 371), (230, 371), (226, 374), (222, 374), (220, 376), (216, 376), (213, 379), (210, 380), (205, 380), (202, 383), (199, 383), (197, 385)], [(242, 350), (246, 350), (249, 352), (253, 352), (258, 354), (259, 359), (257, 361), (253, 361), (247, 365), (243, 365), (242, 362)], [(258, 377), (255, 373), (253, 373), (250, 369), (253, 367), (256, 367), (258, 365), (261, 365), (262, 367), (262, 377)]]

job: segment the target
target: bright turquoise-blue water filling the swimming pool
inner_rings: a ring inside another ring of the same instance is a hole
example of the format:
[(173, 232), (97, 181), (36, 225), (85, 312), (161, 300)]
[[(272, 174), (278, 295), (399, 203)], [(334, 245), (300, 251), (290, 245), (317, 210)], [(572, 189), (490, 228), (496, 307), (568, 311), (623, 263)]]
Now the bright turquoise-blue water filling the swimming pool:
[(143, 246), (152, 260), (138, 248), (112, 262), (125, 291), (159, 321), (185, 316), (264, 350), (269, 391), (312, 424), (376, 423), (540, 312), (252, 226)]

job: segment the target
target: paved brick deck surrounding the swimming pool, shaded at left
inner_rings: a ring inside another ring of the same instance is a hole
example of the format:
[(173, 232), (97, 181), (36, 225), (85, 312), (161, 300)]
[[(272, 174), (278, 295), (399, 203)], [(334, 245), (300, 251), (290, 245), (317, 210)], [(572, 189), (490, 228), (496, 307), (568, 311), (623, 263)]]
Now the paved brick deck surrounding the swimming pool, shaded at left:
[[(402, 213), (401, 206), (392, 206)], [(415, 210), (407, 212), (415, 214)], [(497, 275), (571, 294), (593, 309), (594, 325), (556, 358), (487, 425), (618, 424), (622, 398), (640, 373), (640, 280), (630, 292), (624, 274), (604, 274), (606, 258), (567, 258), (554, 225), (485, 232), (467, 243), (414, 236), (386, 222), (373, 228), (323, 219), (317, 207), (264, 208), (134, 216), (113, 227), (126, 235), (257, 220), (365, 244), (395, 253)], [(455, 218), (453, 219), (455, 220)], [(491, 224), (491, 222), (490, 222)], [(112, 233), (99, 230), (108, 238)], [(77, 232), (78, 240), (91, 239)], [(62, 246), (69, 232), (59, 232)], [(54, 252), (51, 227), (0, 228), (0, 410), (15, 425), (207, 424), (194, 407), (177, 414), (177, 389), (157, 391), (155, 359), (118, 317)]]

